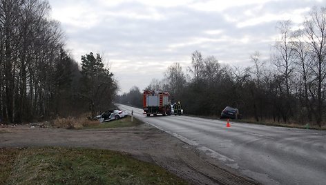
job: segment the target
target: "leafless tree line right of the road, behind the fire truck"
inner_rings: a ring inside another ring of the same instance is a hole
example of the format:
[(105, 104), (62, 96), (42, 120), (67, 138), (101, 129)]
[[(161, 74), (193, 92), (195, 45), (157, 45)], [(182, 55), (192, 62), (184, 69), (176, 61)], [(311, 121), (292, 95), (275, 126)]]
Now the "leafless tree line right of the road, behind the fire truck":
[[(167, 68), (164, 79), (153, 79), (146, 89), (168, 91), (171, 101), (182, 101), (184, 112), (191, 115), (219, 116), (225, 106), (233, 106), (247, 119), (322, 126), (326, 9), (312, 8), (300, 29), (294, 30), (290, 20), (276, 28), (278, 38), (267, 61), (256, 51), (250, 55), (250, 67), (238, 68), (195, 51), (186, 72), (177, 62)], [(135, 90), (122, 97), (129, 99)], [(142, 96), (138, 98), (141, 102)]]

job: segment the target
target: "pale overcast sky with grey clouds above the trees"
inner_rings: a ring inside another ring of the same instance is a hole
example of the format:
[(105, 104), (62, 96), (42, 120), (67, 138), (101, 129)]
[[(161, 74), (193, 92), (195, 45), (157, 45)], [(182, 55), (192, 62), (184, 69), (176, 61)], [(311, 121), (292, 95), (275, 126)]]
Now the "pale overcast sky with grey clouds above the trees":
[(326, 5), (326, 0), (48, 1), (73, 58), (80, 63), (89, 52), (103, 55), (120, 93), (162, 79), (175, 62), (185, 70), (195, 50), (231, 66), (251, 66), (255, 51), (268, 59), (278, 21), (299, 25), (313, 6)]

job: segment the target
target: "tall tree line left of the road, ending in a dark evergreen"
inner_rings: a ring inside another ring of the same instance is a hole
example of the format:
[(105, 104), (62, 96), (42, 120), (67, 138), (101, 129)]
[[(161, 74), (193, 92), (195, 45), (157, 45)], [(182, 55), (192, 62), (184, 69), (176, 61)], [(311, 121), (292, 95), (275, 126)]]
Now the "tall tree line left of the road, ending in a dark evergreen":
[(64, 49), (64, 32), (41, 0), (0, 0), (0, 122), (20, 123), (109, 106), (113, 73), (97, 54), (82, 67)]

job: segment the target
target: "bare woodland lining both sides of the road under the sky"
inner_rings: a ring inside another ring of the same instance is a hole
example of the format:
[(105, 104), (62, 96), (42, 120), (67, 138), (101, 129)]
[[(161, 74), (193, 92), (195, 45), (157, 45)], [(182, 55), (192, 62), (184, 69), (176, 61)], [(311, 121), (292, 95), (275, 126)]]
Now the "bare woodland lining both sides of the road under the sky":
[[(81, 56), (64, 48), (64, 32), (49, 18), (48, 1), (0, 0), (0, 120), (21, 123), (90, 113), (117, 102), (142, 107), (142, 90), (118, 90), (99, 54)], [(191, 66), (176, 62), (146, 89), (171, 94), (191, 115), (219, 116), (225, 106), (244, 118), (286, 124), (325, 124), (326, 10), (312, 8), (300, 29), (276, 26), (279, 37), (268, 61), (250, 55), (252, 66), (220, 64), (214, 56), (191, 53)], [(184, 72), (186, 71), (186, 72)]]

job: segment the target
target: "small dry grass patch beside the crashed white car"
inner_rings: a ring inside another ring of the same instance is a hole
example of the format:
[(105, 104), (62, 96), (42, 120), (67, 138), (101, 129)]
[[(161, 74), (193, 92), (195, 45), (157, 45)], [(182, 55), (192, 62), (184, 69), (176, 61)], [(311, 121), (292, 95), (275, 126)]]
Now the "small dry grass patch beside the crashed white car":
[(83, 128), (120, 128), (120, 127), (133, 127), (143, 124), (142, 121), (135, 119), (133, 117), (133, 121), (131, 121), (131, 117), (124, 117), (122, 119), (117, 119), (113, 121), (99, 123), (99, 121), (95, 121), (93, 124), (84, 125)]

